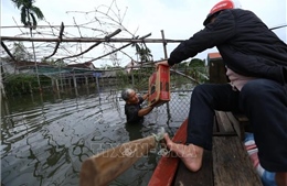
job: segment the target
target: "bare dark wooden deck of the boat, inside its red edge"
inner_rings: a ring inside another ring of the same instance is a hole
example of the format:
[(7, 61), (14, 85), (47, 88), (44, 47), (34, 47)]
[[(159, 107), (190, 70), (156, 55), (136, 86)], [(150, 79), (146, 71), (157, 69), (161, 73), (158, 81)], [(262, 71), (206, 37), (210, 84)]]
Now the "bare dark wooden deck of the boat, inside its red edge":
[(180, 162), (174, 186), (262, 186), (262, 180), (244, 147), (245, 116), (215, 111), (212, 151), (203, 153), (199, 172), (188, 171)]

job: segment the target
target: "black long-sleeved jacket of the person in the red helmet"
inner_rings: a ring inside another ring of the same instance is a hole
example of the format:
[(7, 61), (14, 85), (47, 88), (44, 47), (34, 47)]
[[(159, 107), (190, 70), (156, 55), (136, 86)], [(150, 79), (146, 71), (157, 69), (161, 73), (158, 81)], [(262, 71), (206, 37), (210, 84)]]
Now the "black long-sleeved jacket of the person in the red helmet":
[(286, 43), (251, 11), (221, 11), (213, 23), (182, 42), (168, 63), (174, 65), (213, 46), (237, 74), (287, 83)]

